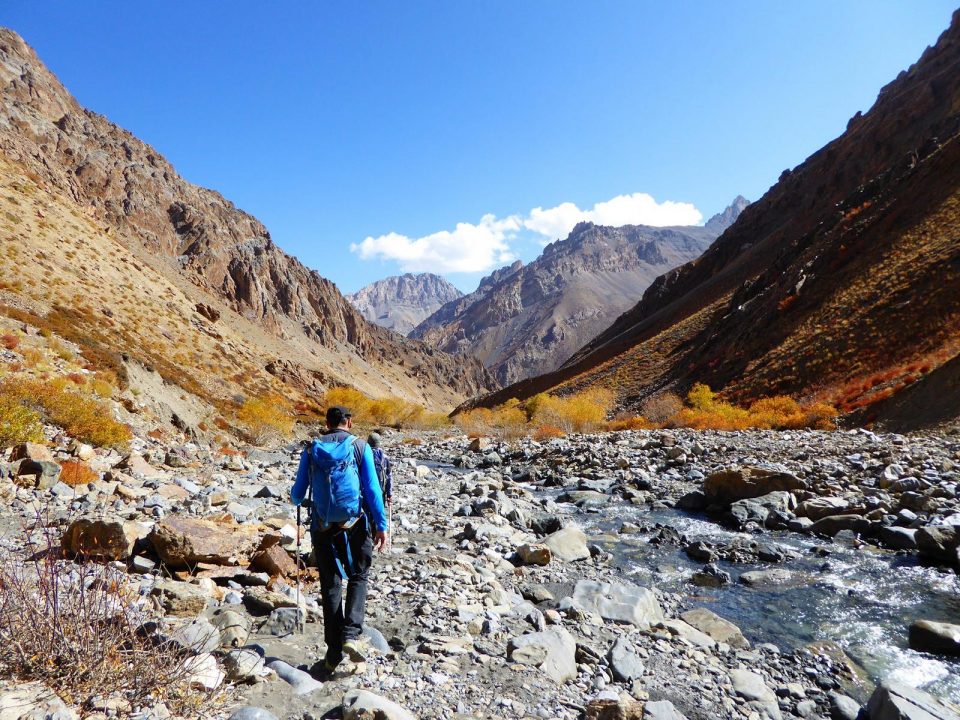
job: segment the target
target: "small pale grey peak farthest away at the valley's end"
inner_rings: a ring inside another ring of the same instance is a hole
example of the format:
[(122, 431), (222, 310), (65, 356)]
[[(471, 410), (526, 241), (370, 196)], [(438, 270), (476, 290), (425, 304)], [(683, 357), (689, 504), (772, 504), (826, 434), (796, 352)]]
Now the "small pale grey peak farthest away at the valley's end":
[(439, 275), (394, 275), (377, 280), (347, 300), (370, 322), (409, 335), (440, 307), (463, 295)]

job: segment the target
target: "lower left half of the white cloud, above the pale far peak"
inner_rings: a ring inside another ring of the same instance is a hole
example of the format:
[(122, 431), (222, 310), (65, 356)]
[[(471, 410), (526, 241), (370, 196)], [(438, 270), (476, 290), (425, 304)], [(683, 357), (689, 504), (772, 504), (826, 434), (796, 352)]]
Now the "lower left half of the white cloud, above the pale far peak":
[(457, 223), (452, 231), (416, 239), (398, 233), (368, 237), (351, 244), (350, 251), (363, 260), (395, 260), (406, 272), (480, 272), (515, 259), (509, 240), (519, 229), (520, 220), (515, 216), (498, 220), (484, 215), (476, 225)]

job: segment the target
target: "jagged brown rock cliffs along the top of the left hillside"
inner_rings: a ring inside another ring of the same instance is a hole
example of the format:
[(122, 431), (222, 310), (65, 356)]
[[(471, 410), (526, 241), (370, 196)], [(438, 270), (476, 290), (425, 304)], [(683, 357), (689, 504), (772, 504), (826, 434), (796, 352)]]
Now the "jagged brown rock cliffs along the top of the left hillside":
[[(318, 353), (333, 380), (351, 382), (336, 373), (338, 354), (347, 352), (385, 368), (385, 388), (394, 384), (387, 375), (407, 377), (417, 367), (410, 380), (420, 388), (400, 383), (402, 395), (432, 388), (426, 394), (465, 397), (492, 387), (479, 363), (446, 358), (368, 323), (333, 283), (280, 250), (260, 221), (82, 108), (10, 30), (0, 30), (0, 89), (0, 151), (37, 185), (84, 208), (131, 252), (157, 260), (158, 272), (187, 279), (270, 335), (329, 351)], [(261, 350), (277, 354), (269, 343)]]

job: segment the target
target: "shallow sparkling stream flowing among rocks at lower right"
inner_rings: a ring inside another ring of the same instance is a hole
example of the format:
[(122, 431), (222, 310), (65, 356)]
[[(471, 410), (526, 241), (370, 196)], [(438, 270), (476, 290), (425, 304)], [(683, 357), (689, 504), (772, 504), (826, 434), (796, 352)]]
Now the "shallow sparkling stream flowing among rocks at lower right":
[[(960, 698), (960, 659), (927, 655), (907, 647), (907, 629), (918, 619), (960, 622), (960, 578), (924, 567), (915, 556), (897, 555), (870, 546), (820, 541), (790, 532), (754, 536), (800, 553), (776, 565), (719, 561), (733, 582), (701, 588), (689, 582), (703, 566), (683, 548), (646, 542), (652, 533), (620, 535), (629, 520), (641, 526), (671, 526), (690, 540), (725, 543), (743, 534), (705, 518), (669, 509), (615, 505), (581, 514), (588, 535), (601, 536), (616, 564), (637, 584), (656, 585), (687, 595), (693, 605), (710, 608), (736, 623), (754, 644), (770, 642), (795, 650), (831, 640), (843, 648), (873, 682), (893, 678), (956, 701)], [(813, 553), (829, 549), (829, 556)], [(747, 570), (782, 567), (804, 577), (796, 587), (763, 590), (738, 583)], [(866, 692), (872, 688), (866, 688)], [(862, 693), (861, 693), (862, 694)], [(860, 698), (864, 699), (863, 697)]]

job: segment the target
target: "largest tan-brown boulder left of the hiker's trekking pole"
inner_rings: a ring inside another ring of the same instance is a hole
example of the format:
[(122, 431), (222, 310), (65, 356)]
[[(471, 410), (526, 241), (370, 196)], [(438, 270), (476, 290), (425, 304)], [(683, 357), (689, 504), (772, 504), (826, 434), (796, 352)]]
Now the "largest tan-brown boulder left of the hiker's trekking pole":
[(253, 525), (234, 525), (173, 515), (157, 523), (148, 538), (160, 559), (172, 568), (197, 563), (237, 565), (256, 547)]

